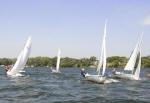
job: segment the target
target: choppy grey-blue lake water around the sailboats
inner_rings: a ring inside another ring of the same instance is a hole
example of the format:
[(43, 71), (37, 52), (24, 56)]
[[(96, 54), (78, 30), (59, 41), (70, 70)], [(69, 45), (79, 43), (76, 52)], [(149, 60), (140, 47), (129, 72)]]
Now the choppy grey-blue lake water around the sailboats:
[(145, 77), (150, 69), (142, 69), (141, 81), (110, 84), (85, 81), (79, 68), (61, 68), (61, 74), (48, 68), (26, 71), (25, 77), (9, 78), (0, 68), (0, 103), (150, 103), (150, 78)]

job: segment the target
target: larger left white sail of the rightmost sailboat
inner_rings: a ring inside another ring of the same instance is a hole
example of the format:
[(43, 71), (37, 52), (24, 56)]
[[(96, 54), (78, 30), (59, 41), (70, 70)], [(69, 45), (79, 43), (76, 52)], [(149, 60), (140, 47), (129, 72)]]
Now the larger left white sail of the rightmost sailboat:
[(138, 43), (136, 44), (136, 47), (135, 47), (135, 49), (134, 49), (127, 65), (125, 66), (124, 70), (132, 71), (132, 73), (133, 73), (134, 66), (135, 66), (135, 63), (136, 63), (136, 58), (137, 58), (137, 55), (139, 53), (139, 46), (141, 44), (142, 36), (143, 36), (143, 33), (142, 33)]

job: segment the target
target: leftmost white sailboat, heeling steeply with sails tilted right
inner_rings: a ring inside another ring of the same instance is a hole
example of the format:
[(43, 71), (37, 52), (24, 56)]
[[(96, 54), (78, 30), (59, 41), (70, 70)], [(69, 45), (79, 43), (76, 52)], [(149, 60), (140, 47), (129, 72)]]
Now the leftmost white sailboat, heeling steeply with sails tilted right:
[(24, 48), (21, 50), (17, 61), (13, 68), (10, 71), (7, 71), (8, 76), (23, 76), (21, 74), (21, 71), (24, 71), (24, 67), (26, 65), (26, 62), (29, 58), (30, 52), (31, 52), (31, 36), (29, 36)]

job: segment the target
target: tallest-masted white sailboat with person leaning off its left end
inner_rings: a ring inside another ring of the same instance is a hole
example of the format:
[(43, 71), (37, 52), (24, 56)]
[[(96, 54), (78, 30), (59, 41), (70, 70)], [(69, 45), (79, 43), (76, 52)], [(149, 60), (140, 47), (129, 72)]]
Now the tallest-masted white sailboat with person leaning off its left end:
[(86, 75), (85, 78), (88, 81), (96, 82), (96, 83), (104, 83), (106, 80), (105, 70), (106, 70), (106, 26), (107, 21), (105, 21), (105, 27), (104, 27), (104, 36), (102, 41), (102, 48), (101, 48), (101, 54), (100, 59), (97, 67), (97, 75)]

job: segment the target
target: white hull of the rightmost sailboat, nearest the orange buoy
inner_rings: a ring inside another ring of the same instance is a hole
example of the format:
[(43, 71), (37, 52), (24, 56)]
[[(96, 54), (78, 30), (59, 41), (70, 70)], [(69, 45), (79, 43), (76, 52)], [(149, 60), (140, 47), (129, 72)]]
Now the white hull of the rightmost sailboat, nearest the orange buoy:
[(133, 74), (117, 74), (114, 75), (113, 77), (126, 80), (140, 80), (139, 78), (136, 78)]

